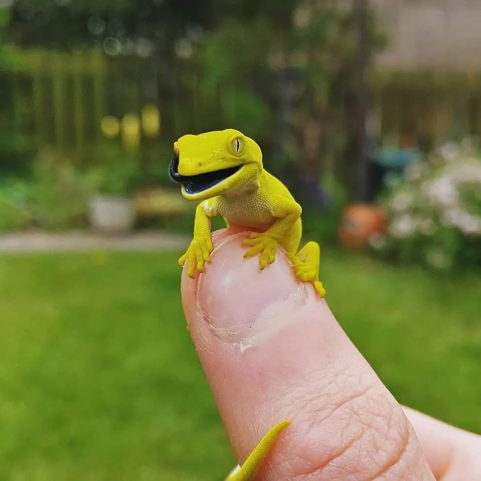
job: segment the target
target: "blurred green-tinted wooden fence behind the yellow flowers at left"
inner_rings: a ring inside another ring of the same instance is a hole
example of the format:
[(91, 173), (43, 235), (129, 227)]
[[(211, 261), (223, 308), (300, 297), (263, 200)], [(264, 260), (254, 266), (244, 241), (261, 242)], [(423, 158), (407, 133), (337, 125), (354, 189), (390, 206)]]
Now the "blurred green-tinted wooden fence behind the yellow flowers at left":
[(37, 148), (54, 147), (85, 155), (100, 140), (105, 115), (140, 113), (156, 103), (155, 71), (142, 59), (125, 62), (101, 51), (60, 53), (13, 50), (8, 71), (0, 71), (9, 101), (3, 102), (16, 124), (22, 123)]

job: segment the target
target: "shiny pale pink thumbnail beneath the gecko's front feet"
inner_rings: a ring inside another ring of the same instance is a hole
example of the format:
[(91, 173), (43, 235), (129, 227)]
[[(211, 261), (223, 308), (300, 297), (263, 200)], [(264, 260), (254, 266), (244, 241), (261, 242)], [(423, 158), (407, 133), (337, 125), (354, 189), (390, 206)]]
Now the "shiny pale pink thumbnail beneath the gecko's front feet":
[(200, 276), (198, 309), (221, 339), (247, 348), (295, 318), (312, 288), (295, 278), (279, 249), (276, 261), (260, 270), (259, 256), (243, 258), (245, 234), (234, 234), (212, 253)]

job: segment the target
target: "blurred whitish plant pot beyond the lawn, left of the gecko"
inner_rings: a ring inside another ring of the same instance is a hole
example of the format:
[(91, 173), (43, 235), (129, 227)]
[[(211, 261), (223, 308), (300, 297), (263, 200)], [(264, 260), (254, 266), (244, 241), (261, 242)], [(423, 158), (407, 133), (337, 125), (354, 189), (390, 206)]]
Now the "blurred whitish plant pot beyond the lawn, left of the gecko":
[(102, 233), (129, 233), (135, 223), (135, 206), (131, 199), (103, 194), (90, 202), (90, 223)]

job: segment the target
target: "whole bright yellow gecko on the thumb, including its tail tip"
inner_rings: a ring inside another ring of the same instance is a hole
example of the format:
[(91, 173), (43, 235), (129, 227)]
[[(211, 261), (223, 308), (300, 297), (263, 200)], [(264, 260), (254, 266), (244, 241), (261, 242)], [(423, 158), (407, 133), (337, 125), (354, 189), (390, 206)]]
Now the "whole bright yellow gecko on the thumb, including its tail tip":
[[(188, 275), (203, 272), (214, 250), (211, 218), (222, 216), (227, 226), (241, 226), (250, 233), (244, 257), (259, 255), (263, 270), (285, 249), (298, 279), (312, 283), (320, 297), (326, 291), (319, 280), (320, 248), (308, 242), (297, 250), (302, 235), (301, 207), (286, 186), (264, 170), (257, 143), (234, 129), (185, 135), (174, 143), (169, 172), (182, 185), (182, 195), (199, 201), (194, 237), (179, 264), (188, 263)], [(276, 424), (254, 448), (242, 466), (226, 481), (251, 481), (278, 434), (289, 424)]]

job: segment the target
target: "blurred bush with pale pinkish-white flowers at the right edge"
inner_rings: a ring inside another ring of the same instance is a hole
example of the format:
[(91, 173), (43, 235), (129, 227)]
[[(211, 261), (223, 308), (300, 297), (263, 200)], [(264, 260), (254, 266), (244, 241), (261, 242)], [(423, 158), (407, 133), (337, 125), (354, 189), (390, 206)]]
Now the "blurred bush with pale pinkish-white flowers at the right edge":
[(389, 223), (371, 239), (375, 250), (439, 270), (481, 266), (481, 157), (472, 142), (409, 165), (382, 203)]

